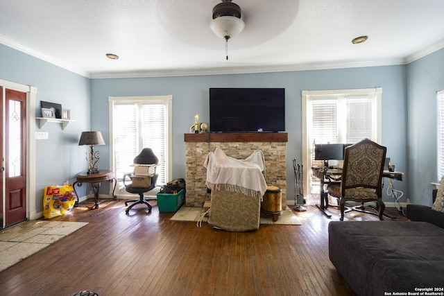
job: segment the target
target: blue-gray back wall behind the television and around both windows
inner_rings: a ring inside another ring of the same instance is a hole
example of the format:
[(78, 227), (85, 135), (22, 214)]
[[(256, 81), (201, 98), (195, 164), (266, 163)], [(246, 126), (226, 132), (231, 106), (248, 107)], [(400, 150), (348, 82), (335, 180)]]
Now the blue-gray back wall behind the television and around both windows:
[[(302, 90), (382, 87), (382, 144), (399, 171), (406, 171), (407, 85), (406, 67), (366, 67), (318, 71), (183, 76), (164, 78), (94, 79), (91, 82), (92, 128), (108, 137), (108, 96), (173, 95), (173, 178), (185, 177), (184, 133), (199, 114), (209, 122), (210, 87), (284, 87), (286, 95), (287, 199), (294, 200), (292, 159), (302, 163)], [(396, 119), (393, 119), (395, 114)], [(210, 127), (211, 129), (211, 127)], [(103, 152), (101, 152), (103, 153)], [(102, 154), (103, 157), (109, 155)], [(205, 169), (202, 168), (202, 173)], [(406, 179), (407, 179), (406, 173)], [(406, 191), (407, 182), (396, 189)], [(391, 202), (386, 197), (386, 201)], [(401, 201), (405, 201), (401, 200)]]

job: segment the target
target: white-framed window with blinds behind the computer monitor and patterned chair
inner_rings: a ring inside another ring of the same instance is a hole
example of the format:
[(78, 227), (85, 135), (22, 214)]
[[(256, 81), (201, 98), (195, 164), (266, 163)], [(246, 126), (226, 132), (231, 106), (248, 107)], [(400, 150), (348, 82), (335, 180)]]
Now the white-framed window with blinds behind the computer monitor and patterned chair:
[[(302, 91), (302, 164), (307, 168), (306, 176), (314, 161), (314, 143), (356, 143), (365, 138), (380, 142), (381, 94), (380, 87)], [(310, 188), (309, 179), (305, 178), (304, 188)]]

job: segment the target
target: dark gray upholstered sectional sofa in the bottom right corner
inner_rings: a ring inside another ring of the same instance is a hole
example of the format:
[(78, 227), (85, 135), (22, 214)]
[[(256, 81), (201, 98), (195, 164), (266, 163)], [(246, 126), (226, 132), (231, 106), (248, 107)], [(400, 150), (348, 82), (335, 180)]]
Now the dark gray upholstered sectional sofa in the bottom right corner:
[(330, 261), (357, 295), (444, 295), (444, 213), (409, 204), (407, 218), (330, 222)]

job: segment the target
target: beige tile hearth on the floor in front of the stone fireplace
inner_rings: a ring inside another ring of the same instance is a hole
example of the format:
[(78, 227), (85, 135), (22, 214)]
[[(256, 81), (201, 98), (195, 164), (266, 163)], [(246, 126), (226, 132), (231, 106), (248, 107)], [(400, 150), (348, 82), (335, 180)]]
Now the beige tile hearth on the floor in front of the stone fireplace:
[[(181, 207), (171, 220), (175, 221), (194, 221), (197, 222), (202, 215), (200, 207)], [(203, 222), (208, 220), (207, 217), (203, 218)], [(287, 207), (282, 211), (282, 214), (278, 217), (277, 221), (273, 221), (271, 216), (261, 216), (260, 224), (273, 224), (273, 225), (302, 225), (296, 215)]]

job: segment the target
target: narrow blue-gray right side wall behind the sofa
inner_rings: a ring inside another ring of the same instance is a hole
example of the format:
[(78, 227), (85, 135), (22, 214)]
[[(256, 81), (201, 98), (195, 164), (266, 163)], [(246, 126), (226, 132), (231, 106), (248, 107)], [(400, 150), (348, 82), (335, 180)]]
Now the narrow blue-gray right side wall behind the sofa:
[(436, 92), (444, 89), (444, 49), (407, 66), (407, 164), (411, 200), (431, 205), (430, 182), (438, 182)]

